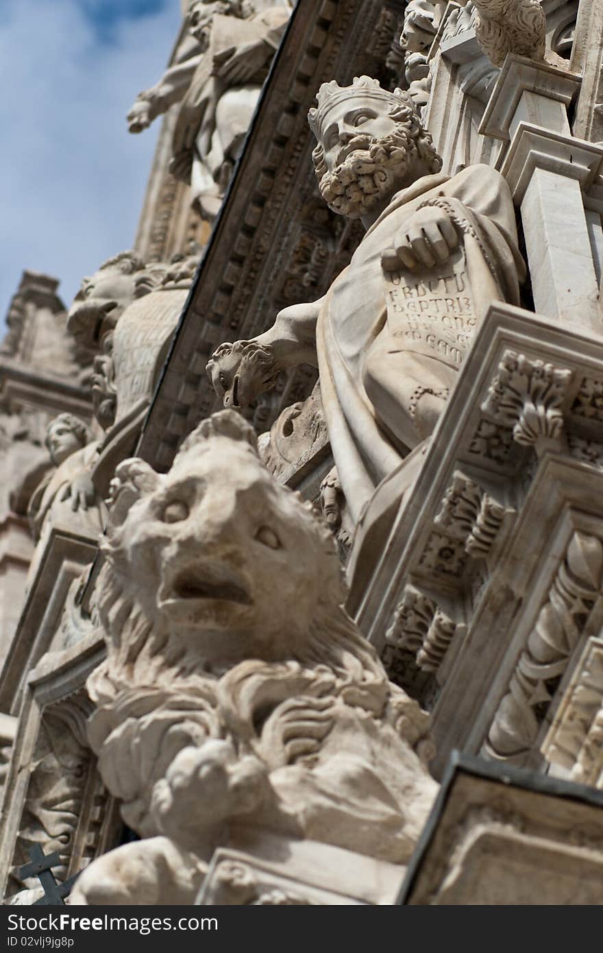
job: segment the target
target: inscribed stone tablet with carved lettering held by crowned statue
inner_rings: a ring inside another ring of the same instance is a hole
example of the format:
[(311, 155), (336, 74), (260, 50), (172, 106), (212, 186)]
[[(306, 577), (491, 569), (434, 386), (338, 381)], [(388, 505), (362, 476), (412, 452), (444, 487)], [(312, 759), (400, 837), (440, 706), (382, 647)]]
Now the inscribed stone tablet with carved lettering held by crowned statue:
[(418, 274), (406, 269), (383, 274), (388, 325), (400, 350), (459, 367), (475, 328), (463, 249)]

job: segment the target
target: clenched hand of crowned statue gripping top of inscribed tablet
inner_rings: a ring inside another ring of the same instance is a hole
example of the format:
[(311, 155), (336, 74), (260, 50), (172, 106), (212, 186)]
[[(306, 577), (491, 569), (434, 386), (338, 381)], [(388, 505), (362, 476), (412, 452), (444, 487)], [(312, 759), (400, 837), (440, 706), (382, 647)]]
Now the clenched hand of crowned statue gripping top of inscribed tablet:
[(386, 271), (433, 268), (448, 261), (457, 245), (458, 233), (450, 215), (437, 206), (428, 206), (412, 214), (394, 235), (392, 248), (381, 255), (381, 264)]

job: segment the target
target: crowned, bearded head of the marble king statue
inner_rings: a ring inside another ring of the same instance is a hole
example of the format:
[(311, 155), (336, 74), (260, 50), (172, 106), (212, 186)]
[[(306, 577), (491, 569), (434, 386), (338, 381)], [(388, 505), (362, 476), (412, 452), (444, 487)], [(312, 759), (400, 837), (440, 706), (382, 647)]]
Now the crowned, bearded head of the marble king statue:
[(352, 86), (323, 83), (308, 114), (317, 146), (312, 160), (320, 192), (333, 212), (368, 213), (412, 172), (439, 172), (442, 160), (408, 92), (381, 89), (370, 76)]

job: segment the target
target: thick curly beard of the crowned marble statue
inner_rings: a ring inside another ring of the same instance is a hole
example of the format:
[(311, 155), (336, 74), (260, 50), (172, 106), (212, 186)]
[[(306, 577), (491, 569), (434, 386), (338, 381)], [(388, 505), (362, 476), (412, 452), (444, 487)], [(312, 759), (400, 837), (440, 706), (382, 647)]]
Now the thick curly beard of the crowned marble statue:
[(325, 172), (319, 183), (329, 208), (346, 218), (360, 218), (393, 193), (415, 154), (403, 126), (382, 139), (359, 134), (347, 148), (354, 145), (357, 152), (347, 155), (332, 172)]

